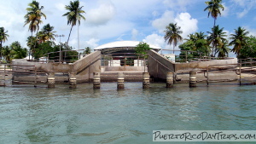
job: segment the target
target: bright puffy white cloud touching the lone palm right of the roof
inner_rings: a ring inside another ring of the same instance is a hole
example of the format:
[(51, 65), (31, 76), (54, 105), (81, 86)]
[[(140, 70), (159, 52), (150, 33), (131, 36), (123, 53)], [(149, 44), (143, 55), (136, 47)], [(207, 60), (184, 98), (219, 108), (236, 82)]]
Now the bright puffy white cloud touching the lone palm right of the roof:
[(196, 19), (192, 19), (189, 13), (178, 14), (175, 22), (177, 22), (177, 26), (181, 26), (181, 30), (183, 31), (183, 38), (187, 37), (190, 33), (196, 32), (198, 29), (198, 21)]

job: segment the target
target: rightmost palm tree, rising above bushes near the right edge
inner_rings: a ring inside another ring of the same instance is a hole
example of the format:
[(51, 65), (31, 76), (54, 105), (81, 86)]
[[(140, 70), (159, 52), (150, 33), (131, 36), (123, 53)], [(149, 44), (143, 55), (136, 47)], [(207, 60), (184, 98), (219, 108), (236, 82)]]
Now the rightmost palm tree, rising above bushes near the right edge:
[(246, 29), (241, 28), (241, 26), (239, 26), (237, 30), (235, 29), (235, 34), (231, 34), (230, 39), (232, 41), (230, 42), (230, 45), (234, 45), (231, 51), (235, 52), (237, 56), (239, 56), (241, 48), (247, 45), (247, 34), (249, 34), (249, 32), (247, 32)]

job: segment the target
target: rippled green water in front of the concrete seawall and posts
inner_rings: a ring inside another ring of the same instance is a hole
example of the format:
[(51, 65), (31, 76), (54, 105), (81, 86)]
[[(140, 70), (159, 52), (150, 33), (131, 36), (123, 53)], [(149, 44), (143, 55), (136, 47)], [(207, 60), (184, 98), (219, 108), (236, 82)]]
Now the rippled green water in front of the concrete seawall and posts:
[(147, 144), (158, 143), (153, 130), (256, 130), (256, 86), (142, 85), (1, 87), (0, 143)]

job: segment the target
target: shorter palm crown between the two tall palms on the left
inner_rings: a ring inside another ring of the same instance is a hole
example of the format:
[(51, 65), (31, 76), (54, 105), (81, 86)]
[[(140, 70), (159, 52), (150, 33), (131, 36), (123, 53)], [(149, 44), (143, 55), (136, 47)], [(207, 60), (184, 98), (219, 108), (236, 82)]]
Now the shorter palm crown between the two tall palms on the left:
[(54, 26), (50, 26), (49, 24), (45, 25), (43, 29), (38, 32), (38, 41), (39, 43), (44, 43), (45, 41), (55, 40), (55, 31)]

